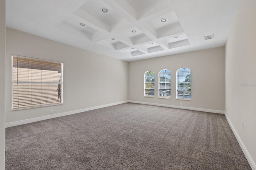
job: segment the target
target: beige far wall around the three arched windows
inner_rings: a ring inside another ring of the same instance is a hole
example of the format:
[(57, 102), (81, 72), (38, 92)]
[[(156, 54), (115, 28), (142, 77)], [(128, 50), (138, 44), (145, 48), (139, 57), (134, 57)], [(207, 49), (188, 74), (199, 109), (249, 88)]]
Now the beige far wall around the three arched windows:
[[(129, 99), (138, 103), (164, 104), (224, 113), (224, 66), (224, 47), (130, 62)], [(191, 101), (176, 99), (176, 71), (182, 67), (191, 69)], [(162, 69), (171, 71), (171, 99), (158, 98), (158, 72)], [(144, 97), (144, 73), (148, 70), (155, 73), (154, 98)]]

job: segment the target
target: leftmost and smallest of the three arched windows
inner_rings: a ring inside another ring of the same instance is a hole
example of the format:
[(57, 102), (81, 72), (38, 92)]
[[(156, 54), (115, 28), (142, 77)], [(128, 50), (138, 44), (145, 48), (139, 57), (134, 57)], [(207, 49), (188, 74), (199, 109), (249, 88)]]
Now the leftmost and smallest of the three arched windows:
[(144, 96), (155, 95), (155, 74), (153, 71), (146, 71), (144, 73)]

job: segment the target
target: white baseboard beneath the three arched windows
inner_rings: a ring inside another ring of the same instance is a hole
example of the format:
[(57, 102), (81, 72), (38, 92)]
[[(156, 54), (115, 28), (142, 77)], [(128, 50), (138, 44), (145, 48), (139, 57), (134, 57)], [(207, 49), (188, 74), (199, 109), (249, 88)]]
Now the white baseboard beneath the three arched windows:
[(202, 112), (225, 114), (224, 111), (212, 110), (212, 109), (202, 109), (202, 108), (176, 106), (176, 105), (164, 105), (164, 104), (159, 104), (159, 103), (148, 103), (148, 102), (141, 102), (141, 101), (128, 101), (128, 102), (144, 104), (144, 105), (154, 105), (154, 106), (172, 107), (172, 108), (177, 108), (177, 109), (188, 109), (188, 110), (193, 110), (193, 111), (202, 111)]

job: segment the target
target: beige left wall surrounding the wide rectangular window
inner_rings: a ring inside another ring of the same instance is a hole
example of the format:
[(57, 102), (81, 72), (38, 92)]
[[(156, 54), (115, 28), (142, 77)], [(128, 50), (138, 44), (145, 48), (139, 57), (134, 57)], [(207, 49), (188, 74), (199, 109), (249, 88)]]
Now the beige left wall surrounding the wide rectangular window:
[[(12, 111), (12, 54), (63, 62), (64, 104)], [(6, 123), (127, 101), (127, 75), (126, 61), (6, 28)]]

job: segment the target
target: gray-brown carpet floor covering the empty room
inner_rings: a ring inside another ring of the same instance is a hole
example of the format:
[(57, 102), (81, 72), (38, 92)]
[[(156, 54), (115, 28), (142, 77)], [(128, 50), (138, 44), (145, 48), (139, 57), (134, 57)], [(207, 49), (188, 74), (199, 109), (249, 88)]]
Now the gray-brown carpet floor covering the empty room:
[(224, 115), (125, 103), (6, 128), (6, 170), (250, 170)]

